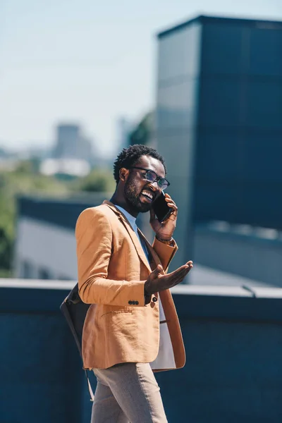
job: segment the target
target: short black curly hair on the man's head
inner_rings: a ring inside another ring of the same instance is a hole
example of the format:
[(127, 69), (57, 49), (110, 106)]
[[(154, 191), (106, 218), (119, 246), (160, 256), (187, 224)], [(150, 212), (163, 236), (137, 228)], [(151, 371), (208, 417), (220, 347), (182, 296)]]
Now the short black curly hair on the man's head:
[(118, 154), (118, 157), (116, 157), (116, 160), (114, 162), (114, 178), (116, 180), (116, 183), (119, 181), (119, 171), (121, 168), (130, 168), (130, 166), (134, 166), (137, 164), (137, 162), (141, 159), (142, 156), (150, 156), (154, 157), (154, 159), (157, 159), (161, 162), (161, 164), (164, 166), (164, 171), (166, 173), (166, 164), (164, 162), (164, 157), (161, 156), (157, 152), (156, 149), (152, 147), (147, 147), (147, 145), (142, 144), (134, 144), (130, 145), (128, 148), (124, 148), (120, 154)]

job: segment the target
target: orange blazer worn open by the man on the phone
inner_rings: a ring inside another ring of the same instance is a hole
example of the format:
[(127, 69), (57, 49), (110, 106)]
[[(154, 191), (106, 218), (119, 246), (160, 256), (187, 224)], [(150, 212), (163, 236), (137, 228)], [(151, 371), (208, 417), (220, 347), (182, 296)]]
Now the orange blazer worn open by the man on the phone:
[[(104, 201), (85, 209), (75, 227), (80, 298), (91, 304), (82, 333), (85, 369), (106, 369), (122, 362), (152, 362), (159, 352), (159, 302), (145, 305), (144, 283), (159, 263), (165, 270), (176, 253), (156, 238), (150, 264), (125, 216)], [(161, 296), (176, 368), (185, 364), (185, 350), (176, 308), (169, 290)]]

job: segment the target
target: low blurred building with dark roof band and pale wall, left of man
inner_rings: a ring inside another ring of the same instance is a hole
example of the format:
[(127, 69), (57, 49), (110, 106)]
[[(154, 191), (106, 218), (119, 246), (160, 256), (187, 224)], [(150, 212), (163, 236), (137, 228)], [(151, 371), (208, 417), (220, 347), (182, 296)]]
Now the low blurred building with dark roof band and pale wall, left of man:
[(82, 210), (97, 206), (105, 199), (109, 197), (103, 193), (62, 200), (20, 197), (14, 276), (75, 280), (76, 220)]

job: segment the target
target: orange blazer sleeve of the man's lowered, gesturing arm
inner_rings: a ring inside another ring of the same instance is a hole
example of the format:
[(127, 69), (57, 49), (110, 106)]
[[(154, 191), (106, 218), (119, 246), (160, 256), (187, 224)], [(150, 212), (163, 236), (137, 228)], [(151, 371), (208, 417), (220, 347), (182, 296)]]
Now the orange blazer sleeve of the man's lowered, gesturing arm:
[(87, 304), (145, 306), (145, 281), (108, 279), (112, 245), (111, 225), (96, 208), (85, 209), (75, 226), (78, 257), (78, 289)]

